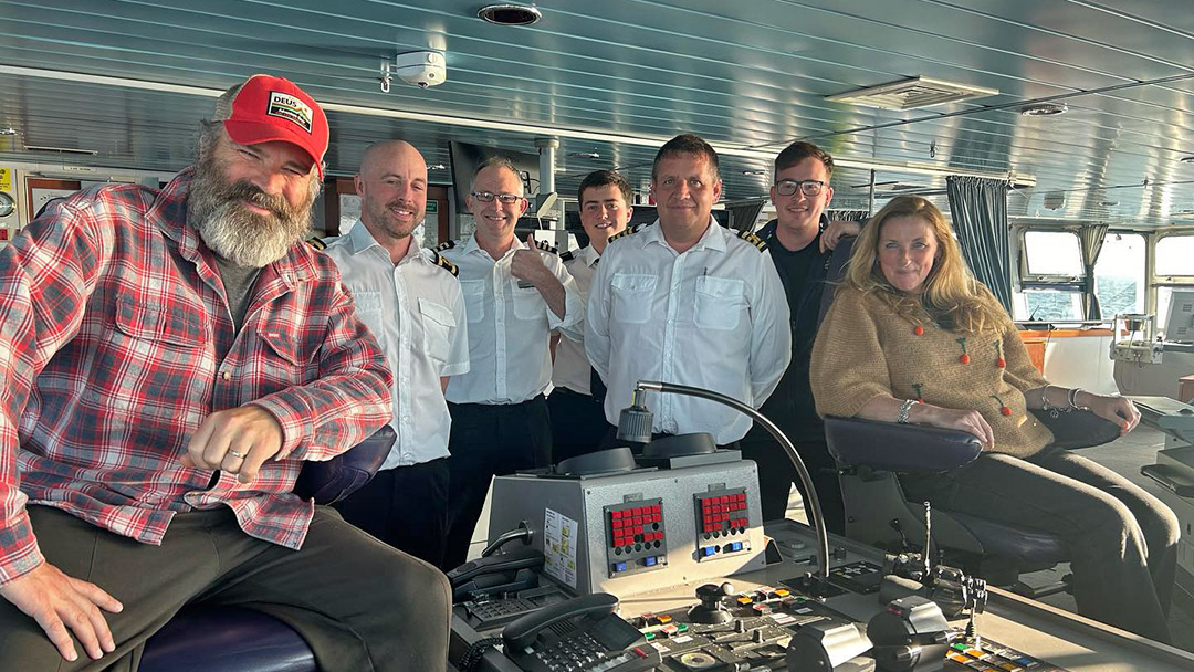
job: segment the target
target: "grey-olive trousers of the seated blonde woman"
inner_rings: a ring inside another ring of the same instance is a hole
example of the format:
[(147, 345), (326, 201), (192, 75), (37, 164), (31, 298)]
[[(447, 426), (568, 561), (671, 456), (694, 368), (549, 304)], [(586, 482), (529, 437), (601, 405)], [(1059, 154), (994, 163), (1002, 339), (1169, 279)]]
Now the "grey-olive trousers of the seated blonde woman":
[(1046, 448), (1028, 460), (984, 452), (946, 474), (901, 475), (900, 485), (946, 511), (1061, 537), (1078, 614), (1169, 641), (1177, 517), (1124, 476)]

